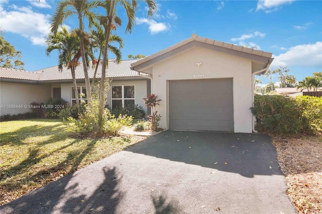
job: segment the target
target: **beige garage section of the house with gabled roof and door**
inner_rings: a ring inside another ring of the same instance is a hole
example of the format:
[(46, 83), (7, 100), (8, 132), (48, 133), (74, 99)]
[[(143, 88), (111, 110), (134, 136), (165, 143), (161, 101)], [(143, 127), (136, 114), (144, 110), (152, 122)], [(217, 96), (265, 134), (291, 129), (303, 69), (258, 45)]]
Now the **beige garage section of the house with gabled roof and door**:
[(272, 61), (272, 53), (192, 34), (131, 69), (152, 76), (161, 127), (251, 133), (254, 75)]

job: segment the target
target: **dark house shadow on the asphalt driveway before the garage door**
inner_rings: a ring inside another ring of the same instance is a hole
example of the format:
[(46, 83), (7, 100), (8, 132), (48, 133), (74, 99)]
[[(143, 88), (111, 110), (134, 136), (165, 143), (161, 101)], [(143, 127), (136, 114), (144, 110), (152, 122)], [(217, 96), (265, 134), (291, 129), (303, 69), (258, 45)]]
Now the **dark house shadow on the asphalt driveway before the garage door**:
[(168, 130), (127, 151), (245, 177), (283, 175), (272, 139), (263, 134)]

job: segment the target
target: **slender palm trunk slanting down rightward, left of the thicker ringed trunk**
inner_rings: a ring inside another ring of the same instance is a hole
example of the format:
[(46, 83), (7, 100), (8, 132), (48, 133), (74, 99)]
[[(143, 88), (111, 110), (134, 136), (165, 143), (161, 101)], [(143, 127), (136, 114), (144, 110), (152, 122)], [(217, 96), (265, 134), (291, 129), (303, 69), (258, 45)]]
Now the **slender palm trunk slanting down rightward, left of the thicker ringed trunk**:
[[(83, 33), (83, 20), (80, 14), (78, 15), (78, 22), (79, 22), (79, 30), (81, 30), (81, 32)], [(88, 103), (89, 109), (91, 110), (92, 109), (92, 90), (91, 90), (91, 82), (90, 82), (89, 73), (88, 73), (87, 64), (86, 64), (84, 38), (80, 39), (80, 46), (81, 46), (81, 55), (82, 55), (82, 62), (83, 62), (83, 68), (84, 68), (87, 103)]]

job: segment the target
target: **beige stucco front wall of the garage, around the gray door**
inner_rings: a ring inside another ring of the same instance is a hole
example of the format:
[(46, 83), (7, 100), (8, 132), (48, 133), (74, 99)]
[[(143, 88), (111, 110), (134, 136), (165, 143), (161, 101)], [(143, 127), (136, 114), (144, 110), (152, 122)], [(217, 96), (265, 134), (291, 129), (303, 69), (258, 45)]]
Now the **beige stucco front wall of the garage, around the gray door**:
[[(196, 65), (202, 62), (201, 66)], [(162, 101), (156, 110), (162, 116), (160, 126), (169, 128), (169, 80), (233, 78), (234, 132), (252, 133), (252, 62), (251, 60), (193, 47), (154, 64), (153, 93)], [(194, 77), (204, 74), (204, 77)]]

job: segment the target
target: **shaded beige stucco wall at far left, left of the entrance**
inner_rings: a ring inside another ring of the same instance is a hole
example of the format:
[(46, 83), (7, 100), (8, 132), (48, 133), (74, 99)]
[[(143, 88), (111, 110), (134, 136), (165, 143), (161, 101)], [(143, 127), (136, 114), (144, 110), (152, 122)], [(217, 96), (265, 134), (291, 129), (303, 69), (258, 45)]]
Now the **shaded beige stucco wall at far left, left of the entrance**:
[[(50, 84), (28, 84), (15, 82), (0, 83), (0, 109), (1, 115), (16, 115), (31, 112), (25, 105), (31, 102), (46, 103), (51, 97)], [(23, 108), (8, 109), (7, 105), (23, 105)]]

